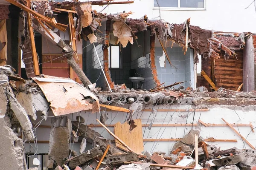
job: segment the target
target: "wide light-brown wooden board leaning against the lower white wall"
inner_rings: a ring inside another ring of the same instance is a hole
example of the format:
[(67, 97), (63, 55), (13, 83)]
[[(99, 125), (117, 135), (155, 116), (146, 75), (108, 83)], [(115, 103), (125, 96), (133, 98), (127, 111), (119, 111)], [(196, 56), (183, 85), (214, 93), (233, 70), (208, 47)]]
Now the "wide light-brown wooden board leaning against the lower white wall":
[[(141, 152), (144, 150), (141, 120), (135, 119), (134, 122), (137, 127), (131, 130), (131, 133), (129, 132), (130, 125), (128, 125), (127, 122), (125, 122), (124, 124), (121, 124), (120, 122), (116, 123), (114, 127), (114, 133), (123, 142), (125, 142), (125, 144), (130, 147), (135, 153), (141, 154)], [(127, 150), (125, 147), (122, 146), (122, 144), (119, 144), (117, 140), (116, 146)]]

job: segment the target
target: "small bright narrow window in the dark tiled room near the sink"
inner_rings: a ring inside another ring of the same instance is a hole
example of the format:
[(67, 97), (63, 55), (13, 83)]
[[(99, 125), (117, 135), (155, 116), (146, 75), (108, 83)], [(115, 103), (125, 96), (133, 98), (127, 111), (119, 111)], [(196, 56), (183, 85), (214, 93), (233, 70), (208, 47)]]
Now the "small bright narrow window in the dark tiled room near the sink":
[(121, 52), (119, 46), (110, 46), (108, 50), (108, 68), (121, 68)]

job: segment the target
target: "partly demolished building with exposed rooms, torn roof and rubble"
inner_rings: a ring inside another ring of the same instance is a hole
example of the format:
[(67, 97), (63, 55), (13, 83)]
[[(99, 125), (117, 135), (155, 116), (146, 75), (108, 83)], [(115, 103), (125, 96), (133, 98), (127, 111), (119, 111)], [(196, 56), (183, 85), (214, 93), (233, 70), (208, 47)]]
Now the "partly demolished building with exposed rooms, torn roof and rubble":
[(15, 67), (0, 67), (2, 168), (256, 166), (254, 34), (92, 9), (112, 1), (7, 1), (18, 27), (0, 24), (1, 65)]

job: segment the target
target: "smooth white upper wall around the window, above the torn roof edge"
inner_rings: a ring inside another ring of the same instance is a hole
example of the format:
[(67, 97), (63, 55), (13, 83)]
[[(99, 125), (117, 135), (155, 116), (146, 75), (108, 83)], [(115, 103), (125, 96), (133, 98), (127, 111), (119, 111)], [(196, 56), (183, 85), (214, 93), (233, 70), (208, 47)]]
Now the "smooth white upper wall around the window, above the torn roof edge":
[[(81, 0), (82, 1), (82, 0)], [(85, 0), (84, 0), (85, 1)], [(86, 0), (87, 1), (87, 0)], [(123, 0), (122, 0), (123, 1)], [(252, 0), (206, 0), (206, 10), (160, 10), (161, 19), (169, 23), (183, 23), (191, 18), (191, 25), (204, 29), (224, 32), (256, 33), (256, 12)], [(105, 6), (93, 6), (96, 11), (101, 11)], [(132, 18), (141, 18), (145, 14), (149, 19), (160, 19), (159, 11), (153, 10), (154, 0), (135, 0), (132, 4), (111, 5), (105, 8), (104, 13), (116, 13), (132, 11)]]

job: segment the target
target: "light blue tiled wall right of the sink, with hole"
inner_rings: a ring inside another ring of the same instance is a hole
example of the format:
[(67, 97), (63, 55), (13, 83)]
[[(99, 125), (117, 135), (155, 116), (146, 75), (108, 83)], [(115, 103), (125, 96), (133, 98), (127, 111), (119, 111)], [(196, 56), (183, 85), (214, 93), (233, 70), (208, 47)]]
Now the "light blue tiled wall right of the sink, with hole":
[[(166, 59), (166, 68), (160, 67), (159, 58), (163, 55), (162, 47), (156, 47), (156, 66), (157, 66), (157, 75), (161, 83), (165, 82), (165, 85), (172, 85), (175, 82), (182, 82), (184, 88), (191, 87), (194, 85), (194, 65), (193, 65), (193, 50), (188, 48), (188, 51), (184, 55), (182, 48), (180, 47), (168, 47), (166, 48), (167, 54), (170, 57), (172, 62), (171, 66)], [(180, 87), (176, 85), (175, 88)]]

